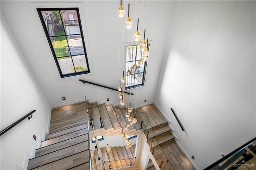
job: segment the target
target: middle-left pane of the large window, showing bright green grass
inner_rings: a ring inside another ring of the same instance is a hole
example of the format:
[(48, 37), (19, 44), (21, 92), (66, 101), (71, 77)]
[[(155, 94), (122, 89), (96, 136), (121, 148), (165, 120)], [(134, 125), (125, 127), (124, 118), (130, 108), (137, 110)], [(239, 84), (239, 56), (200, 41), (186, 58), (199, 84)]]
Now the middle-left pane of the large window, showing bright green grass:
[(66, 36), (50, 37), (56, 57), (69, 56), (68, 42)]

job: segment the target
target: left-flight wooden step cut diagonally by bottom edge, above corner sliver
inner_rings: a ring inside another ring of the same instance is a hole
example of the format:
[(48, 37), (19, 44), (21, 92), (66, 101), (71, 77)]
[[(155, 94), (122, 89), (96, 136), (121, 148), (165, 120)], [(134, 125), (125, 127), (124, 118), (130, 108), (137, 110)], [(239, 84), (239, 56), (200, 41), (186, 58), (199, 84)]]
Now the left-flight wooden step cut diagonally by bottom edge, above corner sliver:
[(89, 162), (89, 151), (85, 150), (83, 152), (56, 160), (54, 162), (48, 163), (43, 166), (36, 167), (36, 170), (68, 170), (75, 166)]

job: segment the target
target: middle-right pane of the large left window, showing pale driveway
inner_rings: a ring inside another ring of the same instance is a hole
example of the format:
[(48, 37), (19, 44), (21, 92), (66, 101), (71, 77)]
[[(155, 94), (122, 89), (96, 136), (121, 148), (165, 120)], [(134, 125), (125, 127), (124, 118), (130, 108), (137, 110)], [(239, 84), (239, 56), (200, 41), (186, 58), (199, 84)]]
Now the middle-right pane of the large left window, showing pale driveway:
[(67, 37), (71, 55), (84, 54), (84, 47), (81, 35), (68, 35)]

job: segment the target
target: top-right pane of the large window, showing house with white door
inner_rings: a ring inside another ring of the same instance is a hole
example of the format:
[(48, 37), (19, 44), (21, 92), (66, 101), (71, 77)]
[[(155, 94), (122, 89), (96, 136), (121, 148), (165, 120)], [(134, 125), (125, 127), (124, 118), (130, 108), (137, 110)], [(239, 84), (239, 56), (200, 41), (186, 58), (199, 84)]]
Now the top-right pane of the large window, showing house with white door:
[(80, 34), (80, 27), (76, 10), (62, 10), (60, 11), (60, 14), (66, 34)]

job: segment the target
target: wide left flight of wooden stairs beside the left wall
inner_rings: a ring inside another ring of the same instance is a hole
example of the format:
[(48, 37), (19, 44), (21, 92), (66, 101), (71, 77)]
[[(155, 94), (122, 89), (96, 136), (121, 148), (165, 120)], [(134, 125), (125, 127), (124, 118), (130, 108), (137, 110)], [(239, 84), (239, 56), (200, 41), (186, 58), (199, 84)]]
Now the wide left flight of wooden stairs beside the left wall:
[(50, 133), (28, 161), (32, 169), (89, 169), (86, 103), (52, 109)]

